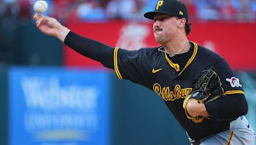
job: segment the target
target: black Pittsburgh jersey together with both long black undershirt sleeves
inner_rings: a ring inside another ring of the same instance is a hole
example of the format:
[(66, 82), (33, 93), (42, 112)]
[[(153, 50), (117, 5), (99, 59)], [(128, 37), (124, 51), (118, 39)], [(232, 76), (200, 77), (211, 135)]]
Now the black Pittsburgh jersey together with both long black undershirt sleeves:
[[(72, 31), (66, 36), (65, 44), (115, 69), (118, 78), (129, 79), (156, 92), (192, 139), (202, 139), (221, 132), (227, 129), (230, 120), (248, 111), (242, 85), (227, 62), (196, 43), (190, 42), (189, 52), (175, 57), (160, 52), (162, 47), (128, 51), (83, 38)], [(196, 78), (209, 66), (215, 67), (218, 72), (226, 96), (205, 103), (210, 119), (194, 122), (186, 117), (183, 100), (191, 93)]]

